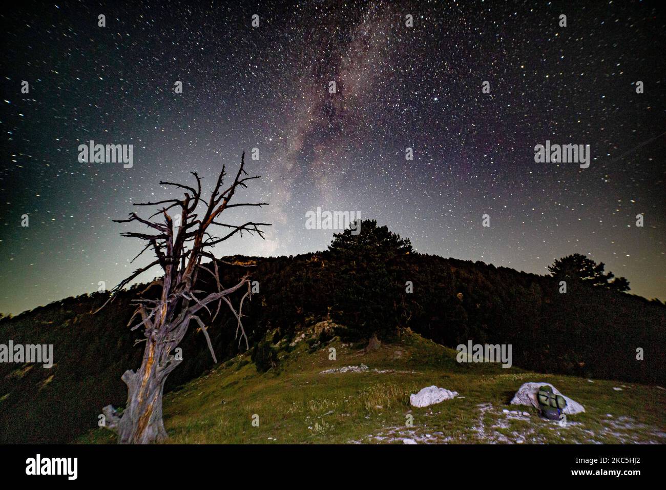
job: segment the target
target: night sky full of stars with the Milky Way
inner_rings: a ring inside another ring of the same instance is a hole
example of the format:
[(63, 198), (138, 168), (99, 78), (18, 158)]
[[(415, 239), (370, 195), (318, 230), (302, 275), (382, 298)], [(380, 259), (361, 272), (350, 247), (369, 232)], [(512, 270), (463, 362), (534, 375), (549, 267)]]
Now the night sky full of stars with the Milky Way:
[[(218, 256), (325, 249), (333, 231), (305, 227), (322, 207), (377, 219), (423, 253), (532, 273), (583, 253), (632, 293), (664, 300), (662, 10), (424, 0), (4, 9), (0, 311), (115, 286), (150, 257), (130, 264), (142, 245), (119, 233), (134, 225), (111, 219), (176, 197), (162, 179), (197, 171), (212, 187), (252, 148), (248, 171), (262, 179), (242, 201), (270, 206), (226, 219), (272, 227)], [(133, 167), (79, 163), (91, 139), (134, 145)], [(589, 168), (535, 163), (546, 140), (589, 144)]]

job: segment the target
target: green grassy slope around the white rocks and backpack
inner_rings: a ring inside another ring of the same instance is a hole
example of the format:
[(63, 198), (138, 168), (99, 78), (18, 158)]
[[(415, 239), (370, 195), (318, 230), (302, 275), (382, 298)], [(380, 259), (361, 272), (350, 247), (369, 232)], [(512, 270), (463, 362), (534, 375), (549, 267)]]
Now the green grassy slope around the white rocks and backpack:
[[(335, 361), (328, 359), (329, 347), (336, 348)], [(169, 442), (402, 443), (410, 438), (419, 443), (666, 443), (663, 389), (591, 383), (492, 364), (461, 365), (456, 351), (409, 331), (372, 353), (336, 338), (313, 348), (300, 341), (282, 349), (280, 357), (278, 369), (257, 373), (249, 354), (239, 355), (168, 393)], [(370, 371), (321, 373), (361, 363)], [(537, 417), (531, 407), (508, 405), (526, 381), (552, 383), (582, 403), (586, 413), (569, 416), (567, 427), (560, 427)], [(430, 385), (458, 391), (464, 398), (411, 407), (410, 393)], [(529, 417), (503, 409), (519, 409)], [(259, 427), (252, 427), (253, 414), (259, 415)], [(408, 414), (414, 416), (413, 427), (406, 426)], [(112, 441), (104, 429), (79, 439)]]

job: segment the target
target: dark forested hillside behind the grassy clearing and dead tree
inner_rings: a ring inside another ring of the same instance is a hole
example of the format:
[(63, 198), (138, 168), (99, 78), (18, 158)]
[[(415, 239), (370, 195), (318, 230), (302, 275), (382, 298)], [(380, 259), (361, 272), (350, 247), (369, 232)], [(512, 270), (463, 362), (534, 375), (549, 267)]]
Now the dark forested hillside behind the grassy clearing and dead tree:
[[(345, 325), (334, 335), (346, 343), (367, 343), (376, 333), (384, 345), (393, 345), (400, 331), (410, 329), (447, 347), (470, 340), (510, 344), (513, 366), (539, 373), (666, 385), (666, 307), (659, 301), (575, 282), (561, 294), (553, 277), (415, 253), (408, 240), (373, 221), (364, 221), (364, 233), (356, 237), (335, 235), (329, 250), (295, 257), (218, 261), (222, 283), (235, 283), (248, 270), (258, 281), (244, 309), (250, 350), (266, 335), (274, 344), (292, 343), (330, 317)], [(241, 267), (247, 265), (252, 267)], [(201, 291), (214, 287), (203, 279), (196, 284)], [(99, 313), (108, 293), (0, 318), (0, 343), (52, 344), (55, 358), (51, 369), (0, 363), (0, 443), (66, 443), (96, 427), (103, 406), (123, 406), (127, 391), (121, 375), (139, 366), (143, 349), (137, 343), (142, 333), (127, 326), (131, 301), (145, 288), (121, 291)], [(158, 292), (153, 286), (145, 295)], [(236, 357), (236, 324), (228, 311), (222, 309), (214, 321), (207, 315), (202, 320), (210, 326), (220, 361), (248, 361), (249, 353)], [(200, 329), (190, 327), (179, 347), (184, 360), (168, 377), (167, 392), (216, 367)], [(637, 348), (643, 349), (643, 359), (637, 359)], [(413, 363), (422, 373), (419, 356), (396, 362)], [(404, 390), (416, 389), (424, 379), (416, 381)]]

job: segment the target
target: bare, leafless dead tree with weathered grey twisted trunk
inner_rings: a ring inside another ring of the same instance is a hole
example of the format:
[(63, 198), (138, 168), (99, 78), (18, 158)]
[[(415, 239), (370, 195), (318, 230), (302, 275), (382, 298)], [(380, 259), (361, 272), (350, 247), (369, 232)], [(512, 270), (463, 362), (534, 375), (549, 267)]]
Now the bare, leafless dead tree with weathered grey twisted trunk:
[[(243, 225), (230, 225), (219, 221), (220, 215), (227, 209), (267, 205), (267, 203), (231, 204), (238, 187), (247, 187), (247, 181), (259, 178), (258, 175), (249, 177), (244, 165), (245, 153), (243, 152), (236, 178), (226, 189), (223, 187), (226, 175), (225, 169), (222, 167), (207, 203), (201, 197), (201, 178), (196, 172), (191, 172), (196, 179), (196, 189), (179, 183), (160, 182), (161, 185), (183, 189), (184, 197), (182, 199), (135, 203), (136, 206), (160, 206), (161, 209), (148, 219), (143, 219), (136, 213), (130, 213), (129, 219), (114, 220), (116, 223), (137, 222), (149, 227), (151, 233), (127, 232), (121, 233), (121, 235), (145, 241), (146, 245), (137, 257), (147, 249), (151, 249), (155, 253), (156, 259), (145, 267), (137, 269), (117, 285), (111, 291), (109, 301), (113, 301), (115, 293), (152, 267), (159, 265), (164, 272), (162, 279), (157, 280), (157, 284), (161, 286), (162, 290), (159, 298), (141, 297), (135, 301), (137, 309), (128, 324), (128, 326), (132, 325), (134, 319), (139, 315), (137, 320), (139, 323), (133, 325), (132, 329), (143, 327), (146, 345), (139, 371), (135, 373), (129, 369), (122, 376), (128, 389), (125, 410), (119, 414), (111, 405), (107, 405), (103, 409), (106, 427), (117, 432), (119, 443), (145, 444), (166, 439), (162, 419), (164, 385), (168, 374), (181, 362), (180, 359), (176, 359), (172, 351), (184, 337), (190, 322), (194, 321), (199, 325), (206, 338), (206, 343), (208, 343), (210, 354), (214, 362), (217, 362), (206, 331), (207, 325), (199, 316), (202, 310), (208, 312), (208, 318), (212, 323), (220, 312), (222, 303), (226, 303), (236, 320), (238, 345), (240, 346), (240, 342), (244, 340), (245, 347), (249, 347), (241, 321), (244, 316), (242, 314), (243, 302), (250, 297), (249, 276), (245, 274), (236, 285), (224, 288), (220, 282), (218, 262), (210, 253), (210, 247), (230, 239), (236, 233), (240, 233), (241, 236), (243, 232), (248, 232), (250, 235), (257, 233), (262, 239), (264, 238), (260, 227), (268, 226), (268, 223), (248, 221)], [(168, 214), (171, 209), (176, 210), (175, 219)], [(201, 217), (196, 213), (197, 209), (204, 210)], [(156, 216), (159, 218), (151, 221)], [(208, 230), (209, 228), (212, 230), (212, 227), (221, 228), (222, 236), (218, 237), (209, 233)], [(202, 259), (210, 259), (212, 262), (210, 265), (202, 265)], [(216, 291), (206, 293), (194, 289), (199, 272), (206, 272), (214, 279)], [(240, 299), (238, 307), (234, 308), (229, 295), (239, 290), (246, 290), (246, 292)], [(209, 305), (215, 309), (214, 313), (209, 309)]]

